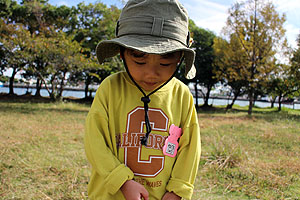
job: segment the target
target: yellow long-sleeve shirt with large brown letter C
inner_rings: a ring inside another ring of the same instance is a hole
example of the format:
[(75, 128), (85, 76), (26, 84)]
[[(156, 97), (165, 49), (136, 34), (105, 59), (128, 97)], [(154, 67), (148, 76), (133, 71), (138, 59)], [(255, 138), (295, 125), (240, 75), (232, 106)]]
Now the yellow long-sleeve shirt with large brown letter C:
[[(134, 179), (144, 185), (150, 200), (165, 192), (191, 199), (200, 159), (200, 130), (193, 97), (173, 78), (150, 96), (152, 132), (147, 147), (142, 94), (126, 72), (106, 78), (99, 86), (86, 119), (85, 150), (92, 166), (90, 199), (124, 199), (120, 187)], [(182, 128), (177, 155), (163, 154), (169, 127)]]

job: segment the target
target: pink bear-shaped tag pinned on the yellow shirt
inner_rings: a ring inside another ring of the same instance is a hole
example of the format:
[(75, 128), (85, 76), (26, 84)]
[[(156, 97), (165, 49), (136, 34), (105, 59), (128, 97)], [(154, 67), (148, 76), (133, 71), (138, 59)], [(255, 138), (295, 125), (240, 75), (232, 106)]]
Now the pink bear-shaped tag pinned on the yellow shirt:
[(181, 136), (181, 128), (172, 124), (169, 129), (169, 137), (165, 141), (163, 153), (166, 156), (175, 157), (178, 149), (178, 138)]

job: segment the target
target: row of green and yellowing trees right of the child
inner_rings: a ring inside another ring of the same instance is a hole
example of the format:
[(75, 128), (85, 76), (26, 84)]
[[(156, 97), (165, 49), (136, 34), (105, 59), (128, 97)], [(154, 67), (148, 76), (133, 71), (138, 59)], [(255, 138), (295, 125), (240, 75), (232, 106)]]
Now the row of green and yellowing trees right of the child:
[[(284, 29), (285, 15), (280, 16), (269, 1), (246, 0), (229, 9), (223, 35), (215, 37), (194, 27), (198, 67), (196, 84), (206, 88), (204, 106), (210, 91), (221, 82), (231, 88), (232, 108), (238, 96), (247, 95), (248, 114), (255, 100), (268, 95), (279, 100), (294, 98), (300, 92), (300, 35), (297, 48), (288, 46)], [(196, 29), (196, 31), (195, 31)]]

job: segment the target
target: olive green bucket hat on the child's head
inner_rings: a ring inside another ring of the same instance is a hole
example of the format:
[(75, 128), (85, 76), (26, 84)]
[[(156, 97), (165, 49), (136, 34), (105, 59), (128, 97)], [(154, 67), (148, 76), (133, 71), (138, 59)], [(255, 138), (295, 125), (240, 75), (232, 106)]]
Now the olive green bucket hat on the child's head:
[(120, 46), (149, 54), (182, 51), (185, 77), (194, 78), (195, 52), (189, 48), (188, 14), (177, 0), (129, 0), (119, 17), (116, 36), (96, 48), (100, 64), (120, 52)]

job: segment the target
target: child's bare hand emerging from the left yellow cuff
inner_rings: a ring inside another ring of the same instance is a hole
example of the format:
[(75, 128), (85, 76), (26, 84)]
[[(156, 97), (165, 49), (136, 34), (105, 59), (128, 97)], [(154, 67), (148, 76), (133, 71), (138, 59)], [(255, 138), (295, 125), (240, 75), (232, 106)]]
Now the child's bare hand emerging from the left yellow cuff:
[(134, 180), (126, 181), (122, 187), (121, 191), (126, 200), (149, 200), (149, 193), (148, 191)]

